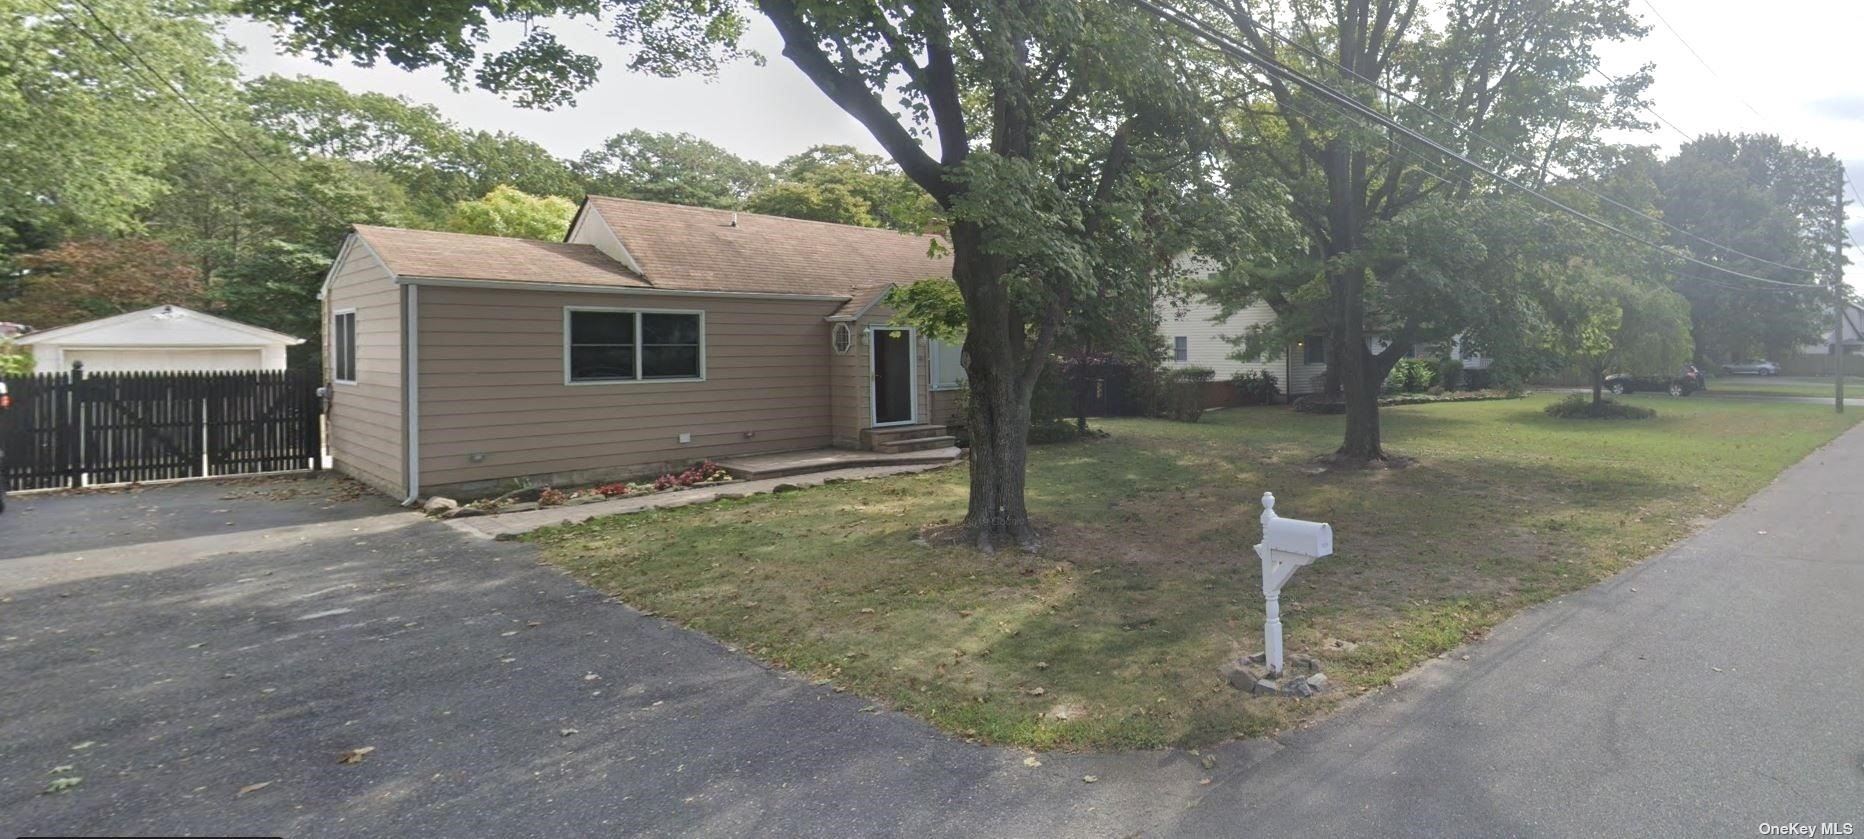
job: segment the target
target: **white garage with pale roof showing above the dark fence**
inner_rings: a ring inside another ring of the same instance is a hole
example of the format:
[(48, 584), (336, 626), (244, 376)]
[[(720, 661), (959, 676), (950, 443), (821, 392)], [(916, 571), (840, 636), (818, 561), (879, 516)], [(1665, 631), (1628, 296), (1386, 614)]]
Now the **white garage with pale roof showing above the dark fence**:
[(285, 347), (304, 343), (181, 306), (155, 306), (116, 317), (28, 332), (39, 373), (84, 362), (89, 373), (285, 369)]

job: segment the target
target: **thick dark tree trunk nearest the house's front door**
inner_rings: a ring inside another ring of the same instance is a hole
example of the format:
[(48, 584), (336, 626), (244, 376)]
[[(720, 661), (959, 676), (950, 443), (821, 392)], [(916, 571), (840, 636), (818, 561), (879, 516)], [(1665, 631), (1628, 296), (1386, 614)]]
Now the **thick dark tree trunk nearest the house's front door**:
[(1029, 462), (1029, 401), (1042, 358), (1031, 364), (1020, 309), (1003, 285), (1003, 265), (982, 248), (977, 224), (953, 226), (953, 280), (964, 289), (969, 330), (964, 369), (971, 386), (971, 505), (966, 533), (982, 550), (1040, 543), (1023, 503)]

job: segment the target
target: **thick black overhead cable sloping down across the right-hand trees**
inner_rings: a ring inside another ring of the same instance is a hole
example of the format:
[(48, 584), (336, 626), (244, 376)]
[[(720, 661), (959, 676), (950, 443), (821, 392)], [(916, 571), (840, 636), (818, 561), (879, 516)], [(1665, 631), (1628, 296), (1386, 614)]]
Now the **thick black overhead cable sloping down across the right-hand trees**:
[(1316, 80), (1316, 78), (1312, 78), (1312, 76), (1309, 76), (1309, 75), (1305, 75), (1305, 73), (1301, 73), (1301, 71), (1297, 71), (1294, 67), (1288, 67), (1286, 63), (1275, 60), (1273, 56), (1258, 54), (1256, 50), (1253, 50), (1253, 48), (1249, 48), (1245, 45), (1236, 43), (1228, 35), (1223, 35), (1221, 32), (1212, 30), (1208, 24), (1204, 24), (1202, 21), (1199, 21), (1197, 17), (1193, 17), (1189, 13), (1184, 13), (1184, 11), (1169, 7), (1169, 6), (1156, 4), (1152, 0), (1128, 0), (1128, 2), (1131, 2), (1133, 6), (1137, 6), (1143, 11), (1150, 13), (1152, 17), (1158, 17), (1159, 21), (1165, 21), (1165, 22), (1169, 22), (1172, 26), (1178, 26), (1178, 28), (1189, 32), (1191, 35), (1195, 35), (1195, 37), (1210, 43), (1219, 52), (1225, 52), (1230, 58), (1238, 58), (1238, 60), (1249, 62), (1249, 63), (1260, 67), (1262, 73), (1268, 73), (1269, 76), (1275, 76), (1275, 78), (1281, 78), (1284, 82), (1294, 82), (1294, 84), (1297, 84), (1301, 88), (1307, 88), (1307, 89), (1314, 91), (1320, 99), (1323, 99), (1327, 103), (1333, 103), (1333, 106), (1336, 106), (1340, 110), (1348, 110), (1351, 114), (1359, 114), (1359, 116), (1363, 116), (1366, 119), (1372, 119), (1374, 123), (1377, 123), (1379, 127), (1383, 127), (1389, 132), (1396, 132), (1396, 134), (1400, 134), (1404, 138), (1409, 138), (1411, 142), (1422, 144), (1422, 145), (1426, 145), (1428, 149), (1432, 149), (1432, 151), (1435, 151), (1439, 155), (1445, 155), (1445, 157), (1448, 157), (1448, 158), (1452, 158), (1452, 160), (1456, 160), (1456, 162), (1460, 162), (1460, 164), (1463, 164), (1463, 166), (1467, 166), (1467, 168), (1471, 168), (1471, 170), (1474, 170), (1478, 173), (1484, 173), (1484, 175), (1487, 175), (1487, 177), (1491, 177), (1491, 179), (1495, 179), (1495, 181), (1499, 181), (1502, 185), (1514, 186), (1514, 188), (1517, 188), (1517, 190), (1521, 190), (1521, 192), (1525, 192), (1525, 194), (1528, 194), (1528, 196), (1532, 196), (1532, 198), (1536, 198), (1536, 199), (1540, 199), (1540, 201), (1543, 201), (1543, 203), (1558, 209), (1560, 213), (1571, 214), (1571, 216), (1575, 216), (1575, 218), (1579, 218), (1579, 220), (1583, 220), (1586, 224), (1592, 224), (1592, 226), (1596, 226), (1599, 229), (1616, 233), (1616, 235), (1620, 235), (1624, 239), (1629, 239), (1633, 242), (1644, 244), (1644, 246), (1648, 246), (1652, 250), (1657, 250), (1661, 254), (1666, 254), (1670, 257), (1683, 259), (1687, 263), (1700, 265), (1704, 268), (1719, 270), (1722, 274), (1737, 276), (1741, 280), (1752, 280), (1752, 282), (1769, 283), (1769, 285), (1801, 287), (1801, 289), (1817, 287), (1817, 285), (1812, 285), (1812, 283), (1793, 283), (1793, 282), (1784, 282), (1784, 280), (1771, 280), (1771, 278), (1763, 278), (1763, 276), (1754, 276), (1754, 274), (1748, 274), (1748, 272), (1741, 272), (1741, 270), (1734, 270), (1734, 268), (1728, 268), (1728, 267), (1722, 267), (1722, 265), (1715, 265), (1715, 263), (1700, 259), (1700, 257), (1696, 257), (1693, 254), (1676, 252), (1676, 250), (1672, 250), (1672, 248), (1668, 248), (1668, 246), (1665, 246), (1661, 242), (1655, 242), (1655, 241), (1648, 239), (1648, 237), (1640, 237), (1640, 235), (1637, 235), (1633, 231), (1627, 231), (1627, 229), (1624, 229), (1624, 227), (1620, 227), (1620, 226), (1616, 226), (1612, 222), (1607, 222), (1603, 218), (1592, 216), (1590, 213), (1579, 211), (1579, 209), (1568, 205), (1566, 201), (1560, 201), (1558, 198), (1553, 198), (1553, 196), (1549, 196), (1549, 194), (1545, 194), (1545, 192), (1542, 192), (1542, 190), (1538, 190), (1534, 186), (1523, 185), (1523, 183), (1519, 183), (1519, 181), (1515, 181), (1515, 179), (1512, 179), (1512, 177), (1508, 177), (1508, 175), (1504, 175), (1504, 173), (1501, 173), (1501, 172), (1497, 172), (1497, 170), (1493, 170), (1493, 168), (1489, 168), (1489, 166), (1486, 166), (1482, 162), (1476, 162), (1469, 155), (1463, 155), (1463, 153), (1460, 153), (1456, 149), (1450, 149), (1450, 147), (1439, 144), (1437, 140), (1432, 140), (1430, 136), (1420, 134), (1419, 131), (1415, 131), (1415, 129), (1411, 129), (1411, 127), (1407, 127), (1407, 125), (1392, 119), (1391, 116), (1381, 114), (1381, 112), (1366, 106), (1359, 99), (1353, 99), (1351, 95), (1342, 93), (1342, 91), (1335, 89), (1333, 86), (1329, 86), (1325, 82), (1320, 82), (1320, 80)]

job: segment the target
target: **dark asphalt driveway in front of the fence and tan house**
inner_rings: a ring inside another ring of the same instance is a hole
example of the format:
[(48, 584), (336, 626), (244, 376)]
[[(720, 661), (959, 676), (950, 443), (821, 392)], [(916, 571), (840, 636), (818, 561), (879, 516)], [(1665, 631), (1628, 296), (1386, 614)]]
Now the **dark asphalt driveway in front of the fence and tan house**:
[(0, 835), (1111, 835), (1206, 776), (953, 742), (330, 477), (22, 496), (0, 543)]

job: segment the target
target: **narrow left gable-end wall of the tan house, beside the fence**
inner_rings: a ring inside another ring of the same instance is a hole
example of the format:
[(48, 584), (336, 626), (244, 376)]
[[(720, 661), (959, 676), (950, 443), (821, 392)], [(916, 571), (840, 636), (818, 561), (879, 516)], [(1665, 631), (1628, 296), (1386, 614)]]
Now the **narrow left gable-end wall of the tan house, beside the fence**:
[(356, 309), (356, 384), (330, 386), (330, 457), (382, 492), (406, 492), (401, 420), (401, 287), (363, 246), (350, 246), (324, 295), (324, 380), (334, 358), (330, 315)]

